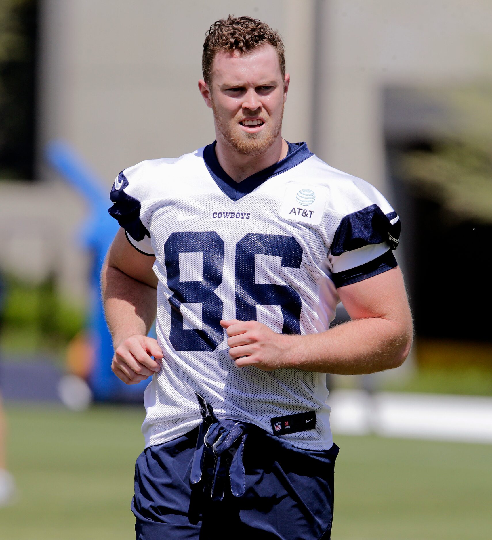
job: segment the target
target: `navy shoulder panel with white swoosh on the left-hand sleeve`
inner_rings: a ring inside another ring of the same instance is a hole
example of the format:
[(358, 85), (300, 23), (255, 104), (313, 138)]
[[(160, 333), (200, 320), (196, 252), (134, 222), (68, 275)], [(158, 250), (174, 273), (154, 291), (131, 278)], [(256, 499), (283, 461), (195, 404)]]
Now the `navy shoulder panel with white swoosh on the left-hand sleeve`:
[(124, 191), (128, 187), (128, 180), (123, 172), (119, 173), (115, 184), (119, 187), (118, 189), (114, 185), (112, 187), (110, 199), (114, 204), (108, 210), (109, 214), (137, 242), (143, 240), (145, 236), (150, 238), (149, 231), (140, 221), (140, 201)]

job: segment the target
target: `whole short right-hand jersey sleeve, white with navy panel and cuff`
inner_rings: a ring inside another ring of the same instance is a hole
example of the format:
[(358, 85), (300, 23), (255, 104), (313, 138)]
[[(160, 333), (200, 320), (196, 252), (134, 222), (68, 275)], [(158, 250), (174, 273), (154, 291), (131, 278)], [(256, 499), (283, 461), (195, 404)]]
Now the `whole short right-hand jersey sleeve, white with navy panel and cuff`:
[(336, 287), (397, 266), (393, 251), (400, 240), (399, 216), (375, 187), (355, 178), (349, 182), (345, 212), (340, 215), (328, 253)]

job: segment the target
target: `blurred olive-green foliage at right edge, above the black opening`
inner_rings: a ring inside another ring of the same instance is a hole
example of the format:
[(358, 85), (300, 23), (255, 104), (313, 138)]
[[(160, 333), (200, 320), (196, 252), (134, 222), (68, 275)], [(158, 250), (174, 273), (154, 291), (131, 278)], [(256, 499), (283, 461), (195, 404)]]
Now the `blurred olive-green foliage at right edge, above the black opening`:
[[(429, 97), (436, 98), (428, 92)], [(402, 178), (455, 220), (492, 222), (492, 90), (490, 85), (441, 93), (455, 129), (445, 131), (427, 150), (400, 156)]]

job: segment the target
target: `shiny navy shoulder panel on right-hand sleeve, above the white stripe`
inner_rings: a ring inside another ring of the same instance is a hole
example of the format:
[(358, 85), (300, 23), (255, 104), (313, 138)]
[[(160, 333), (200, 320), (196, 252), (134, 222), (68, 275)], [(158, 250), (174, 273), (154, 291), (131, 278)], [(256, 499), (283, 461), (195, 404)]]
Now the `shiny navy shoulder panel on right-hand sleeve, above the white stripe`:
[(385, 214), (376, 204), (346, 215), (333, 236), (332, 255), (341, 255), (345, 251), (381, 242), (388, 242), (391, 249), (396, 249), (401, 223), (397, 220), (392, 225), (390, 221), (396, 217), (396, 212)]

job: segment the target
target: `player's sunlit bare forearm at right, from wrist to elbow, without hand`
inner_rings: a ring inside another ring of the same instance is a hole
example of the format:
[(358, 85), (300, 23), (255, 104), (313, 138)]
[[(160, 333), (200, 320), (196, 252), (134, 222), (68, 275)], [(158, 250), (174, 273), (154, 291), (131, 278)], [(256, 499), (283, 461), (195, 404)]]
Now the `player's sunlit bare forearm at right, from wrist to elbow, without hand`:
[(320, 334), (284, 337), (291, 367), (341, 375), (365, 374), (403, 363), (412, 343), (412, 324), (359, 319)]

